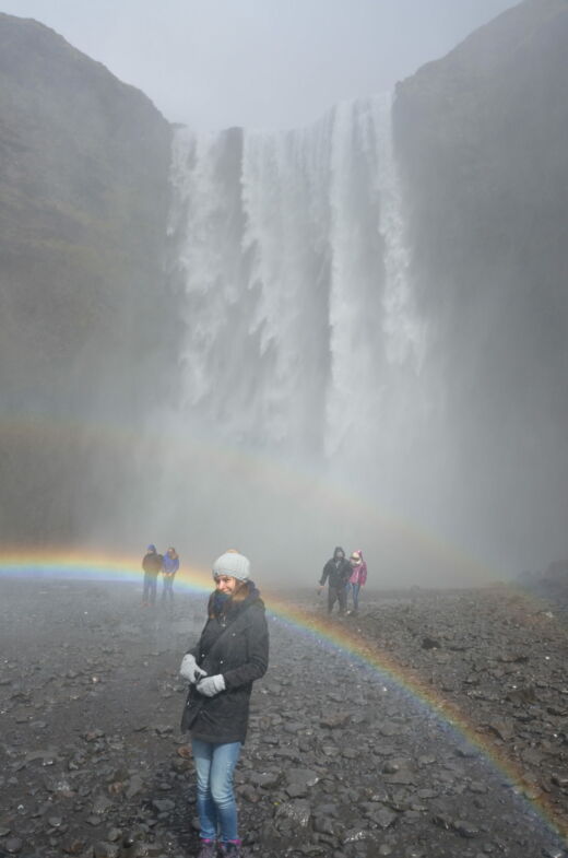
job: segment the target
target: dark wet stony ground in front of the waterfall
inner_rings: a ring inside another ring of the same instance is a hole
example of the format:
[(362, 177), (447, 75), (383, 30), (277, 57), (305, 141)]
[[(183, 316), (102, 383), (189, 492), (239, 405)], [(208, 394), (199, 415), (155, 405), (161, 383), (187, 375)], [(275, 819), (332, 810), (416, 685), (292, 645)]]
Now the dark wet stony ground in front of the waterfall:
[[(322, 615), (312, 592), (288, 598)], [(177, 669), (203, 615), (203, 598), (168, 616), (127, 585), (0, 580), (0, 858), (197, 853)], [(333, 623), (451, 704), (519, 783), (398, 683), (272, 616), (236, 775), (250, 855), (568, 855), (535, 810), (568, 820), (554, 608), (505, 588), (365, 592)]]

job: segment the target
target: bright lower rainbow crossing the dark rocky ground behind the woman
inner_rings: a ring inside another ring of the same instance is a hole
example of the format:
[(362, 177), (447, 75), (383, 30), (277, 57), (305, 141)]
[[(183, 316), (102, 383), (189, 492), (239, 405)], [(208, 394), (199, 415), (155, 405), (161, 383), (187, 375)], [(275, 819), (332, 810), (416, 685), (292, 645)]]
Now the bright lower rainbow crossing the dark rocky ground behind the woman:
[[(76, 580), (104, 580), (141, 585), (140, 559), (104, 556), (85, 551), (50, 550), (29, 551), (13, 548), (0, 553), (0, 577), (55, 577)], [(192, 596), (211, 592), (211, 573), (202, 568), (181, 568), (176, 577), (176, 589)], [(546, 826), (565, 842), (568, 838), (568, 820), (563, 816), (544, 795), (534, 798), (529, 784), (517, 764), (494, 744), (481, 736), (465, 715), (453, 703), (441, 697), (421, 677), (400, 665), (397, 659), (374, 646), (345, 625), (319, 616), (284, 599), (281, 595), (263, 591), (267, 609), (272, 619), (283, 622), (296, 634), (303, 634), (370, 668), (381, 681), (390, 682), (438, 721), (450, 728), (465, 741), (523, 797)]]

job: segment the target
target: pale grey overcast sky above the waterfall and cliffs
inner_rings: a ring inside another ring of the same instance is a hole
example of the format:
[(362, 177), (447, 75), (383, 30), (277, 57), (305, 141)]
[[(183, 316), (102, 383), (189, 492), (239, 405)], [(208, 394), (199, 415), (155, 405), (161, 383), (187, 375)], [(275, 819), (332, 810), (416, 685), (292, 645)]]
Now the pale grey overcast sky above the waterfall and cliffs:
[(391, 90), (514, 0), (0, 0), (198, 129), (289, 128)]

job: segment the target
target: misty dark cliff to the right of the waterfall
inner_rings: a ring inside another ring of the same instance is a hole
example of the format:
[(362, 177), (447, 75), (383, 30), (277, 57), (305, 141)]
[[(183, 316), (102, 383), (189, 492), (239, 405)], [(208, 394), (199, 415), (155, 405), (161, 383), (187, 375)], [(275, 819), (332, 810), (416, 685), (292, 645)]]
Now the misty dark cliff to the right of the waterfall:
[(567, 0), (528, 0), (399, 84), (394, 104), (455, 501), (475, 496), (501, 541), (566, 530), (567, 56)]

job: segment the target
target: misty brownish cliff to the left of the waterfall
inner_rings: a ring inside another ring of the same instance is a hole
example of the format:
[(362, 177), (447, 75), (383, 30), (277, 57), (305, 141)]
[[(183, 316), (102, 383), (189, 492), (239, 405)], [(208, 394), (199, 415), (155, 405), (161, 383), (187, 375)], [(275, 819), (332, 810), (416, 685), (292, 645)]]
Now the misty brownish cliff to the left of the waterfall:
[(86, 483), (88, 518), (128, 468), (97, 426), (135, 426), (164, 389), (169, 157), (170, 128), (142, 93), (0, 15), (4, 539), (79, 534)]

